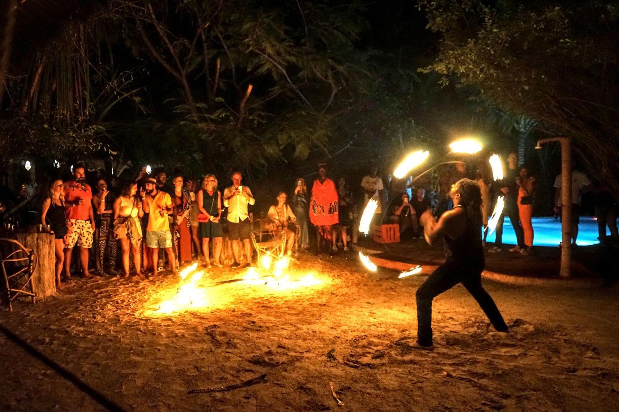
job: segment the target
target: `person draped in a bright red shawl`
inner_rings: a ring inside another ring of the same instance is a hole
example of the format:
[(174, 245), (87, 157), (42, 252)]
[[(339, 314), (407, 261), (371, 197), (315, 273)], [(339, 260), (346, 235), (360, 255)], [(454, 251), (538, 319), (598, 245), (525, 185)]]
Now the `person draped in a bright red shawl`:
[(318, 179), (314, 180), (309, 201), (309, 221), (316, 226), (316, 239), (318, 240), (318, 252), (321, 251), (322, 238), (332, 242), (332, 250), (337, 251), (333, 226), (339, 223), (337, 213), (337, 190), (335, 183), (327, 178), (327, 165), (318, 164)]

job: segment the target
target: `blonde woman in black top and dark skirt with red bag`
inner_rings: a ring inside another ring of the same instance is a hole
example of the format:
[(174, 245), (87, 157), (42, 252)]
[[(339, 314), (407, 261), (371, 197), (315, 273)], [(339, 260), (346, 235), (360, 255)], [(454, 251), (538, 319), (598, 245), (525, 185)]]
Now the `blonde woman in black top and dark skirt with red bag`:
[(220, 220), (222, 218), (222, 194), (217, 191), (217, 178), (214, 174), (204, 176), (202, 189), (197, 192), (197, 205), (200, 210), (197, 215), (198, 236), (202, 239), (202, 254), (204, 264), (211, 268), (209, 259), (209, 241), (213, 239), (213, 264), (223, 267), (219, 262), (222, 255), (223, 230)]

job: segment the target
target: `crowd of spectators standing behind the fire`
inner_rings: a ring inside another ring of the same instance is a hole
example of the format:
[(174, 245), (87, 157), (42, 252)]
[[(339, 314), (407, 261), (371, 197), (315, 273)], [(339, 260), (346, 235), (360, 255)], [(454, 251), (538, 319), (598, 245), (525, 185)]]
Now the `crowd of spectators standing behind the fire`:
[[(368, 202), (378, 203), (372, 226), (399, 225), (400, 239), (423, 236), (419, 221), (426, 210), (438, 217), (452, 208), (449, 191), (462, 178), (473, 179), (482, 192), (482, 218), (488, 233), (491, 207), (503, 196), (504, 210), (496, 223), (496, 236), (488, 252), (503, 250), (503, 221), (508, 217), (516, 234), (517, 244), (511, 252), (532, 253), (534, 230), (532, 212), (535, 197), (535, 176), (528, 166), (518, 167), (516, 153), (510, 153), (506, 174), (501, 181), (492, 181), (487, 165), (460, 161), (448, 162), (439, 168), (434, 184), (430, 179), (393, 179), (379, 173), (373, 163), (368, 174), (357, 184), (340, 176), (329, 178), (327, 165), (320, 163), (317, 178), (311, 189), (303, 177), (295, 180), (291, 192), (279, 191), (266, 212), (261, 230), (281, 233), (285, 237), (285, 253), (305, 251), (314, 244), (317, 253), (350, 251), (350, 244), (358, 239), (360, 215)], [(230, 174), (230, 186), (219, 189), (214, 174), (203, 178), (187, 179), (175, 173), (172, 179), (163, 170), (152, 175), (145, 168), (134, 179), (121, 186), (119, 178), (105, 179), (97, 173), (86, 181), (87, 170), (82, 165), (72, 169), (71, 178), (56, 179), (46, 187), (40, 208), (40, 224), (50, 227), (55, 238), (56, 282), (61, 287), (61, 275), (71, 278), (73, 249), (79, 249), (79, 267), (82, 276), (119, 275), (129, 277), (134, 272), (143, 278), (146, 273), (156, 277), (167, 267), (176, 273), (178, 267), (194, 259), (201, 259), (205, 267), (222, 267), (224, 236), (229, 239), (234, 262), (251, 264), (253, 246), (251, 232), (256, 205), (251, 189), (243, 184), (243, 176)], [(109, 184), (108, 184), (109, 182)], [(560, 215), (561, 179), (554, 184), (555, 213)], [(599, 225), (600, 242), (606, 241), (608, 225), (611, 236), (617, 239), (615, 223), (617, 204), (603, 184), (595, 188), (580, 171), (573, 173), (572, 221), (573, 242), (578, 236), (579, 204), (583, 192), (595, 189), (595, 214)], [(41, 191), (40, 190), (40, 191)], [(0, 216), (20, 202), (32, 198), (37, 183), (27, 179), (19, 194), (4, 184), (0, 186)], [(311, 225), (315, 228), (315, 242), (311, 241)], [(373, 227), (370, 228), (370, 236)], [(241, 254), (245, 259), (241, 259)], [(130, 257), (133, 259), (130, 259)], [(167, 261), (167, 262), (166, 262)], [(92, 269), (93, 268), (93, 269)]]

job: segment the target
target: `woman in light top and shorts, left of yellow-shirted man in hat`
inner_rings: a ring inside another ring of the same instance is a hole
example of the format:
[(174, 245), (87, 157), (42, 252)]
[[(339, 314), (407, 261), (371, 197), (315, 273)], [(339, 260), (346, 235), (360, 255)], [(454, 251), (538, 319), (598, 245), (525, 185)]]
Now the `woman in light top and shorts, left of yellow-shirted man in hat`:
[(136, 275), (143, 278), (141, 270), (142, 225), (139, 219), (144, 217), (142, 202), (137, 194), (137, 183), (129, 181), (124, 184), (119, 197), (114, 202), (114, 238), (120, 242), (123, 250), (124, 277), (129, 277), (129, 248), (133, 252)]

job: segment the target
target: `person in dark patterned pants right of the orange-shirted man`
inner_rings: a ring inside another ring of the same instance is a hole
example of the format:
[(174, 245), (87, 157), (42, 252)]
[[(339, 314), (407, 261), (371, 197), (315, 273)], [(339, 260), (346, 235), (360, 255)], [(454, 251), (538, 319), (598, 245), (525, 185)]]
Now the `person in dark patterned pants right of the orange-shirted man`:
[[(92, 202), (97, 215), (97, 228), (95, 236), (97, 238), (97, 249), (95, 253), (95, 264), (97, 266), (97, 275), (103, 276), (103, 260), (105, 255), (108, 255), (110, 264), (110, 273), (116, 273), (116, 255), (118, 254), (118, 243), (111, 238), (113, 230), (113, 205), (115, 198), (108, 191), (108, 184), (104, 179), (97, 181), (97, 194), (92, 197)], [(109, 250), (108, 250), (109, 247)]]

